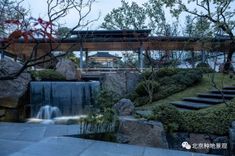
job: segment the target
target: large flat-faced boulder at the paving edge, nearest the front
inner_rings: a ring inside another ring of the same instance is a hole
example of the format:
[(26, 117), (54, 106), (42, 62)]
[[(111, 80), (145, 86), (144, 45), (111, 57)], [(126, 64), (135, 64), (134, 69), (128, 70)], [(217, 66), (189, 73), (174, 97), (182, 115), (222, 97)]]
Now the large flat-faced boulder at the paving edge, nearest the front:
[(156, 121), (120, 118), (119, 143), (168, 148), (163, 125)]

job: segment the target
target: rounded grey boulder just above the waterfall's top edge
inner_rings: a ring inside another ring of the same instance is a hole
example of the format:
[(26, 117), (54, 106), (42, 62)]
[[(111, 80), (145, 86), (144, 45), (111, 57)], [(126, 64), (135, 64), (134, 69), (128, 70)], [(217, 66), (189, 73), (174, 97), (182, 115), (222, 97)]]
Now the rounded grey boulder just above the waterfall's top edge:
[(56, 71), (62, 74), (66, 80), (78, 80), (81, 74), (77, 70), (76, 64), (69, 59), (61, 59), (56, 64)]

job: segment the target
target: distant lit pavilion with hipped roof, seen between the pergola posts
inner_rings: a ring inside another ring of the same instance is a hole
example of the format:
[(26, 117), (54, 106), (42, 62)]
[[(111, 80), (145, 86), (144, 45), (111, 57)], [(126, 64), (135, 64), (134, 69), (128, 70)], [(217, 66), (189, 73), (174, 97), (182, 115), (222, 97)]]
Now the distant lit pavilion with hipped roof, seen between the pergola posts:
[(94, 55), (88, 56), (88, 64), (89, 67), (116, 68), (121, 58), (108, 52), (97, 52)]

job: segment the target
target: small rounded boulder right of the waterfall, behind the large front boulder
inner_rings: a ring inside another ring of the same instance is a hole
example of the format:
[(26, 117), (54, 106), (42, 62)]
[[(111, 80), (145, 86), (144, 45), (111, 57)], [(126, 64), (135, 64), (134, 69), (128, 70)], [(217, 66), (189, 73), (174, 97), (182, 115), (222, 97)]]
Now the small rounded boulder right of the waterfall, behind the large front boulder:
[(116, 103), (113, 108), (118, 112), (121, 116), (132, 115), (135, 109), (135, 105), (129, 99), (121, 99)]

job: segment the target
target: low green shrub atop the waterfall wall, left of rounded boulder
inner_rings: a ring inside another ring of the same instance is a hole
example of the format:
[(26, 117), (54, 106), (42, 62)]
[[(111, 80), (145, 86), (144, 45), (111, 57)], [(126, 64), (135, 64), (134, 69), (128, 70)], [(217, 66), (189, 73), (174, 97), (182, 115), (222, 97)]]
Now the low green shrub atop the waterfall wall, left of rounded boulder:
[(39, 79), (39, 80), (55, 80), (55, 81), (60, 81), (60, 80), (66, 80), (66, 78), (58, 73), (55, 70), (52, 69), (46, 69), (46, 70), (40, 70), (40, 71), (32, 71), (32, 77), (34, 79)]

